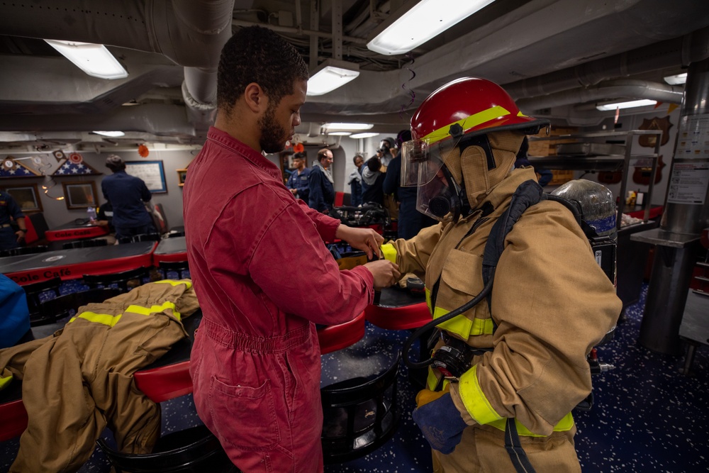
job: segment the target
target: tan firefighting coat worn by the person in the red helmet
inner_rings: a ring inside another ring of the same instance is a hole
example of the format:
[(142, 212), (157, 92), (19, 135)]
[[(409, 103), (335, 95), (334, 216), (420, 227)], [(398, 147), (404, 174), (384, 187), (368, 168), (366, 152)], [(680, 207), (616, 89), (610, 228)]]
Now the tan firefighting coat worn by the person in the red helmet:
[[(489, 201), (494, 208), (485, 217), (477, 210), (458, 223), (439, 224), (411, 240), (384, 245), (385, 257), (395, 260), (402, 274), (425, 271), (433, 318), (483, 289), (488, 235), (515, 189), (528, 179), (535, 179), (531, 168), (515, 169), (483, 196), (480, 202)], [(516, 418), (520, 435), (529, 436), (574, 429), (571, 409), (591, 391), (586, 355), (615, 325), (621, 306), (571, 212), (553, 201), (528, 208), (505, 240), (492, 290), (492, 317), (484, 300), (440, 325), (468, 345), (493, 348), (474, 357), (471, 369), (452, 383), (464, 420), (504, 430), (506, 418)], [(439, 377), (437, 370), (430, 373), (430, 389)], [(463, 443), (475, 437), (464, 433)], [(474, 445), (462, 446), (454, 454), (474, 451)], [(498, 455), (506, 457), (504, 450)]]

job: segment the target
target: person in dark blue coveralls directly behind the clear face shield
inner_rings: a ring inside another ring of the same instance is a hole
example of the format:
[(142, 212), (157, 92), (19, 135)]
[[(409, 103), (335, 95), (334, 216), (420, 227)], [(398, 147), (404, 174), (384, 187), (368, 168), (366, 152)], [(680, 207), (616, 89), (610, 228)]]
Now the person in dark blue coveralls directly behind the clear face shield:
[(411, 131), (401, 130), (396, 135), (395, 146), (396, 156), (389, 162), (389, 168), (386, 169), (386, 177), (382, 187), (384, 194), (396, 196), (398, 200), (398, 220), (397, 220), (397, 235), (398, 238), (415, 237), (422, 228), (435, 225), (437, 222), (416, 210), (416, 192), (415, 186), (401, 186), (401, 145), (405, 141), (411, 140)]

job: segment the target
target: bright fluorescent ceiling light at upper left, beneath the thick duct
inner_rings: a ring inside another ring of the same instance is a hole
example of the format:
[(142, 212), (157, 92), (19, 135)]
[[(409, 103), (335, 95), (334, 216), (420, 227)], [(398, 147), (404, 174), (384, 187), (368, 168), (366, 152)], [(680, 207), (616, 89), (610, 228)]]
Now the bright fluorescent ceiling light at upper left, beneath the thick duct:
[(86, 74), (100, 79), (123, 79), (128, 72), (116, 60), (106, 46), (76, 41), (45, 40)]

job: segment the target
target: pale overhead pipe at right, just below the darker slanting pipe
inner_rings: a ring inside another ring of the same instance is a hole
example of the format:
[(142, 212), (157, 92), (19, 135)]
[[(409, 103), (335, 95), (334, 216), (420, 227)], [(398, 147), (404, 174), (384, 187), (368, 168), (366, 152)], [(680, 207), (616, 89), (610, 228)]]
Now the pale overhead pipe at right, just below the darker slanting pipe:
[(619, 79), (601, 82), (593, 87), (582, 87), (529, 99), (519, 99), (517, 105), (520, 110), (532, 113), (532, 111), (542, 108), (620, 98), (652, 99), (669, 104), (681, 104), (682, 96), (683, 87), (635, 79)]

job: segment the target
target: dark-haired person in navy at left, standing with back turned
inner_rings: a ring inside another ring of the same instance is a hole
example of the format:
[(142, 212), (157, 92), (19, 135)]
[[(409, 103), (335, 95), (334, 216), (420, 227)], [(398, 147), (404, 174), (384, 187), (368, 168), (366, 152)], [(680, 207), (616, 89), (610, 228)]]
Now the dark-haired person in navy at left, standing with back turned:
[(113, 174), (101, 181), (104, 198), (113, 207), (113, 227), (116, 240), (144, 233), (155, 233), (155, 224), (146, 206), (152, 208), (152, 194), (140, 177), (125, 172), (125, 162), (116, 155), (106, 158), (106, 167)]

